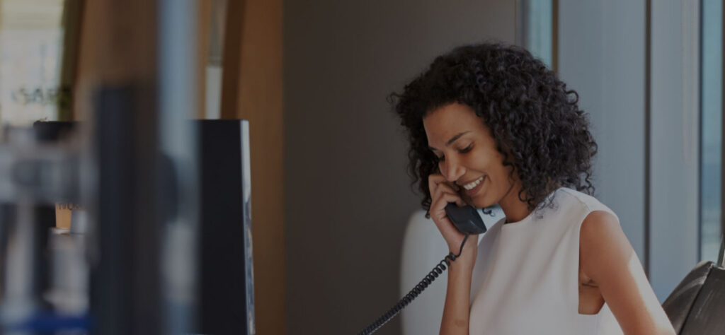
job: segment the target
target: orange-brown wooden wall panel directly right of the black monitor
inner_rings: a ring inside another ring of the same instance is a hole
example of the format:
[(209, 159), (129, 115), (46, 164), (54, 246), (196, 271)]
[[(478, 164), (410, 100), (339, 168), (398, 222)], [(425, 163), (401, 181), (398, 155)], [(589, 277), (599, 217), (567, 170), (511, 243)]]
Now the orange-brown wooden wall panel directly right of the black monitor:
[(254, 300), (258, 334), (284, 334), (282, 1), (247, 0), (239, 118), (252, 150)]

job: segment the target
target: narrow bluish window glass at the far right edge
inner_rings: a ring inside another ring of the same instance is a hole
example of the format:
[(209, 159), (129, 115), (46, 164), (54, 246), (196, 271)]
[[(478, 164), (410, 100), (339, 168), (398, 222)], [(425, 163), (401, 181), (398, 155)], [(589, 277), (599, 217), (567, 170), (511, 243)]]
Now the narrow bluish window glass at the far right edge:
[(718, 259), (722, 145), (722, 1), (702, 1), (700, 260)]

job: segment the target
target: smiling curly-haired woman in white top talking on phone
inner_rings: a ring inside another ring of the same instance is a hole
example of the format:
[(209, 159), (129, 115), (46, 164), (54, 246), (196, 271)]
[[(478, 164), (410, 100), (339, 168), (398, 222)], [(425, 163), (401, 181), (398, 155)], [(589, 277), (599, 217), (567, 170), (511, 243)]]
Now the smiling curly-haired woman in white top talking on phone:
[(464, 234), (447, 203), (506, 216), (451, 264), (441, 334), (674, 334), (618, 217), (592, 197), (597, 145), (554, 72), (522, 48), (463, 46), (392, 97), (450, 252)]

